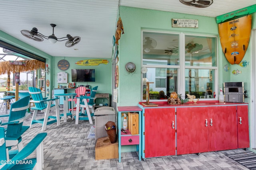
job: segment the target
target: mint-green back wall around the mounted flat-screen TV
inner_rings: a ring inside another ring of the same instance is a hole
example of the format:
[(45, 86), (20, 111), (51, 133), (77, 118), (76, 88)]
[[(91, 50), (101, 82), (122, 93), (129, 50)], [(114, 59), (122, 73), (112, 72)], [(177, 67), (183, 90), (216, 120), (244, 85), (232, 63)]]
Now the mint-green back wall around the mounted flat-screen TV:
[[(71, 80), (71, 69), (95, 69), (95, 82), (76, 82), (76, 87), (78, 85), (90, 85), (91, 88), (93, 88), (94, 86), (98, 86), (98, 92), (97, 93), (112, 93), (111, 90), (111, 83), (112, 83), (112, 79), (111, 79), (111, 70), (112, 70), (112, 65), (111, 65), (111, 59), (106, 59), (109, 61), (108, 64), (99, 64), (98, 66), (79, 66), (77, 64), (75, 64), (77, 61), (81, 61), (81, 60), (86, 60), (86, 59), (90, 59), (90, 58), (85, 58), (85, 57), (53, 57), (54, 59), (54, 72), (51, 73), (52, 76), (54, 76), (54, 88), (58, 88), (58, 82), (57, 82), (57, 73), (61, 72), (62, 70), (60, 70), (58, 68), (58, 62), (60, 60), (67, 60), (70, 63), (70, 67), (68, 68), (68, 70), (65, 70), (64, 72), (68, 73), (68, 82), (72, 82)], [(74, 82), (73, 82), (74, 83)], [(60, 84), (62, 86), (67, 86), (66, 83)]]

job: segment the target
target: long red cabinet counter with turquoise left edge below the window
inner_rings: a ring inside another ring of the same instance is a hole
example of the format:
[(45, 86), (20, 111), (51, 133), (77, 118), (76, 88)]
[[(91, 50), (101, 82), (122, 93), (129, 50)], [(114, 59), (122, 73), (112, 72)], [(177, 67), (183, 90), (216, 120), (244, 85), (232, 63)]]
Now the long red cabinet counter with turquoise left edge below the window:
[(143, 159), (250, 147), (247, 103), (150, 103), (138, 104)]

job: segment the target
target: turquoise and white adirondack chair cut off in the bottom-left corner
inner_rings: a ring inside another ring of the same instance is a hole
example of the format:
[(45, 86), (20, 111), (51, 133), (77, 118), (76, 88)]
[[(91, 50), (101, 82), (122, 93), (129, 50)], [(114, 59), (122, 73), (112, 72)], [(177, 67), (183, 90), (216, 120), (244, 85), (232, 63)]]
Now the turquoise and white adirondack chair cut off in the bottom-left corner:
[[(39, 133), (12, 159), (8, 159), (4, 127), (0, 127), (0, 170), (42, 170), (44, 168), (44, 148), (42, 141), (47, 133)], [(36, 150), (36, 158), (26, 159)]]

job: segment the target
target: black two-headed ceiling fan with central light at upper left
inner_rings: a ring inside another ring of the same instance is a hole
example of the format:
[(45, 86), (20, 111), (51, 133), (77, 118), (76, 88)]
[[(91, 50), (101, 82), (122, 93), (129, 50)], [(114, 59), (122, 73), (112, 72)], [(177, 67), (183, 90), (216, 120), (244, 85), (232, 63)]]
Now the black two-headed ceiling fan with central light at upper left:
[(25, 37), (33, 39), (34, 41), (44, 41), (44, 38), (45, 38), (45, 39), (48, 39), (50, 41), (50, 43), (54, 44), (57, 41), (68, 40), (65, 43), (66, 47), (73, 47), (74, 45), (76, 45), (80, 42), (80, 40), (81, 40), (80, 37), (78, 37), (78, 36), (72, 37), (70, 34), (67, 34), (66, 37), (57, 38), (54, 35), (54, 27), (56, 27), (56, 24), (51, 23), (50, 25), (52, 26), (52, 35), (49, 35), (49, 36), (45, 36), (42, 33), (39, 33), (38, 29), (36, 27), (32, 28), (32, 30), (30, 30), (30, 31), (23, 29), (20, 32)]

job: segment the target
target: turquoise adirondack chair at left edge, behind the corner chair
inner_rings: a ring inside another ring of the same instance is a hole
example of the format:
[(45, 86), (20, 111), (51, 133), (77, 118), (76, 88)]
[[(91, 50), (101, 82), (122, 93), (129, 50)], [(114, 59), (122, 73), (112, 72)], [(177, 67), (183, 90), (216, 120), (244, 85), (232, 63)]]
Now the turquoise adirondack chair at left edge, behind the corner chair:
[[(24, 126), (24, 120), (28, 119), (31, 114), (26, 113), (29, 108), (29, 100), (30, 96), (26, 96), (20, 100), (14, 102), (10, 107), (9, 115), (0, 115), (0, 117), (9, 117), (8, 122), (3, 122), (2, 126), (6, 125), (5, 128), (5, 140), (6, 147), (11, 149), (13, 146), (17, 146), (18, 150), (12, 150), (10, 155), (16, 154), (17, 151), (22, 150), (22, 135), (26, 130), (28, 130), (29, 126)], [(7, 149), (7, 152), (8, 152)], [(9, 153), (8, 153), (9, 156)], [(9, 157), (8, 157), (9, 158)]]

